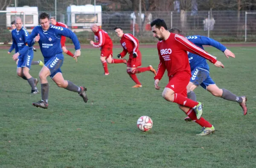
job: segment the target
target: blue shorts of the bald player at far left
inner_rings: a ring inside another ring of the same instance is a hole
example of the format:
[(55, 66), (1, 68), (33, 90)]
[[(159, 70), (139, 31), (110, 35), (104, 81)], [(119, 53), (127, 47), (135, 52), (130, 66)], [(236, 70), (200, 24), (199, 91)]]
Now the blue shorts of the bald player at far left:
[(34, 58), (34, 52), (32, 49), (29, 49), (25, 54), (18, 57), (19, 61), (17, 68), (27, 67), (30, 70), (32, 60)]

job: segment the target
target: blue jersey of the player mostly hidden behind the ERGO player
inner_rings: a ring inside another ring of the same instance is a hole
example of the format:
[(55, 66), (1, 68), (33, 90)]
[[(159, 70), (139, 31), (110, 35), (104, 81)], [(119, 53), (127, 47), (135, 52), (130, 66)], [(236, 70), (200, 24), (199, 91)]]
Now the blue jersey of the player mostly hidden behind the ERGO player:
[[(201, 49), (204, 49), (203, 45), (213, 46), (221, 50), (222, 52), (224, 52), (227, 49), (224, 45), (222, 45), (218, 41), (215, 41), (211, 38), (207, 38), (205, 36), (193, 35), (193, 36), (187, 36), (186, 38), (192, 43), (194, 43), (196, 46), (200, 47)], [(202, 68), (204, 70), (209, 71), (209, 65), (207, 64), (205, 58), (200, 57), (199, 55), (196, 55), (193, 53), (189, 53), (188, 56), (189, 56), (189, 64), (190, 64), (191, 71), (195, 70), (196, 68)]]

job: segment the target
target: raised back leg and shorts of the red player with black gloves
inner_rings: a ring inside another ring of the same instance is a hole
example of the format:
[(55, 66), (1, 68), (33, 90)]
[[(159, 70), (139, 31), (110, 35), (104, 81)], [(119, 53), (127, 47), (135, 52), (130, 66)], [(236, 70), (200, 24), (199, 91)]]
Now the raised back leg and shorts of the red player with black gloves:
[[(141, 66), (141, 53), (140, 51), (138, 52), (138, 56), (137, 58), (132, 58), (131, 59), (131, 73), (136, 74), (136, 73), (142, 73), (145, 71), (151, 71), (152, 73), (154, 73), (154, 75), (157, 75), (156, 70), (154, 70), (154, 68), (149, 65), (148, 67), (140, 67)], [(136, 67), (136, 68), (134, 68)]]

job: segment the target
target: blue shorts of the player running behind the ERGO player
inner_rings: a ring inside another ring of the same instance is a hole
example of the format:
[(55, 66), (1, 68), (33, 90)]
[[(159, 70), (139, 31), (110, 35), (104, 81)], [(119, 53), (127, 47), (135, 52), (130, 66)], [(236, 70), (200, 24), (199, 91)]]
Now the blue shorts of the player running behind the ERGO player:
[(207, 90), (207, 86), (215, 84), (207, 70), (196, 68), (191, 71), (191, 75), (192, 77), (190, 78), (190, 82), (195, 84), (197, 87), (201, 85), (201, 87)]

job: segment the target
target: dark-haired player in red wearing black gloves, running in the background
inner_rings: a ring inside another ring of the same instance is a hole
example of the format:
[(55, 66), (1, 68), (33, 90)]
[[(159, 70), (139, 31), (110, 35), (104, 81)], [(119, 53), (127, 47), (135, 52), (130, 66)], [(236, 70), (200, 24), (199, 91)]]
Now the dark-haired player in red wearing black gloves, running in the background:
[(127, 61), (126, 71), (130, 75), (131, 79), (136, 83), (134, 88), (142, 87), (140, 81), (136, 76), (136, 73), (151, 71), (154, 73), (154, 75), (157, 75), (157, 72), (151, 65), (149, 65), (148, 67), (140, 67), (141, 53), (139, 50), (139, 41), (137, 38), (129, 33), (124, 34), (121, 27), (116, 27), (115, 32), (116, 35), (121, 38), (120, 43), (123, 47), (123, 51), (118, 54), (117, 57), (123, 58), (127, 54), (127, 52), (129, 53), (129, 60)]

